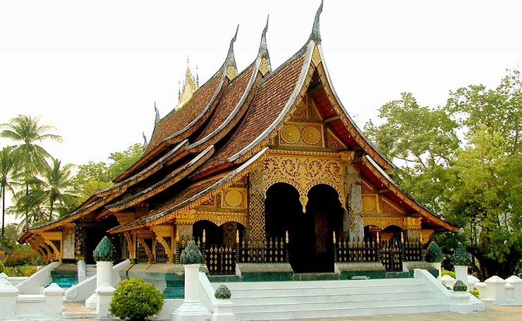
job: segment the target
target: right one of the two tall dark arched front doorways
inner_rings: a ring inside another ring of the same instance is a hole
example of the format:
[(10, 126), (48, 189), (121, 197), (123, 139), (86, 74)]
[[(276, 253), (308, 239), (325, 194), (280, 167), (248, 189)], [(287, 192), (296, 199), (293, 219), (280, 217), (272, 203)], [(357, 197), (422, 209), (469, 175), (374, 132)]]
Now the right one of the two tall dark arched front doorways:
[[(305, 217), (301, 221), (306, 262), (301, 272), (334, 272), (334, 233), (343, 238), (344, 208), (337, 191), (319, 184), (308, 192)], [(303, 249), (304, 250), (304, 249)]]

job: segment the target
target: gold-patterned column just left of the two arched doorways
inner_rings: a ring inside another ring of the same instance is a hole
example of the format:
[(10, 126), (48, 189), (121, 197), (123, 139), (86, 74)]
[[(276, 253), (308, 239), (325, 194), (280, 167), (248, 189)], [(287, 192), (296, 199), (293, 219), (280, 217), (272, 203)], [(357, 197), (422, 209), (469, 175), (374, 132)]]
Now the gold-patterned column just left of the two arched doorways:
[(248, 176), (248, 244), (265, 241), (265, 182), (263, 169), (257, 167)]

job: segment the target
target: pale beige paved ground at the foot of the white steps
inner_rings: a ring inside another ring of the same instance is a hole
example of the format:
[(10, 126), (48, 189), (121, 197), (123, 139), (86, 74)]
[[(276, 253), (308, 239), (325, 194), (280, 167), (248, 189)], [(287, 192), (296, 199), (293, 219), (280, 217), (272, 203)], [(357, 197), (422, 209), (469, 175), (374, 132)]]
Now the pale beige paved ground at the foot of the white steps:
[[(64, 313), (67, 314), (68, 321), (95, 321), (94, 315), (87, 313), (83, 304), (66, 303)], [(78, 318), (74, 318), (78, 317)], [(319, 319), (295, 319), (294, 321), (382, 321), (382, 320), (401, 320), (401, 321), (463, 321), (463, 319), (473, 321), (522, 321), (522, 306), (489, 306), (484, 312), (460, 314), (451, 312), (440, 313), (415, 313), (401, 315), (371, 315), (364, 317), (326, 317)], [(119, 320), (104, 319), (104, 320)]]

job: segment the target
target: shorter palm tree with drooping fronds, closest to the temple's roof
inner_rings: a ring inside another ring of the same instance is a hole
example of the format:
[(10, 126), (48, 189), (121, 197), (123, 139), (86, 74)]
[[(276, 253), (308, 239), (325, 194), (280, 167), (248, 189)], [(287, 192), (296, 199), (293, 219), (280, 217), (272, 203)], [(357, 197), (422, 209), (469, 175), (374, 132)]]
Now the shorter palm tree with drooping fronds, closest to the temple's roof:
[(76, 195), (73, 194), (72, 164), (61, 166), (58, 159), (51, 157), (51, 164), (40, 171), (39, 176), (33, 176), (30, 191), (25, 195), (26, 205), (32, 208), (47, 210), (49, 221), (56, 212), (63, 214), (71, 210)]

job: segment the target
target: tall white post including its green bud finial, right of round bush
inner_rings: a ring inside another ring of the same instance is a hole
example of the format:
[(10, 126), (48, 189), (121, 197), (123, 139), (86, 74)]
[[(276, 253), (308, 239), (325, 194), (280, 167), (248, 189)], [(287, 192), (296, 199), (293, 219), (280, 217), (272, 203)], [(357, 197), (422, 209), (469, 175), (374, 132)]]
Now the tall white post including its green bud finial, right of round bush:
[(207, 321), (210, 311), (200, 301), (200, 265), (203, 255), (194, 241), (189, 241), (179, 257), (185, 268), (185, 298), (180, 307), (171, 313), (173, 321)]

